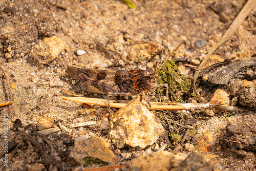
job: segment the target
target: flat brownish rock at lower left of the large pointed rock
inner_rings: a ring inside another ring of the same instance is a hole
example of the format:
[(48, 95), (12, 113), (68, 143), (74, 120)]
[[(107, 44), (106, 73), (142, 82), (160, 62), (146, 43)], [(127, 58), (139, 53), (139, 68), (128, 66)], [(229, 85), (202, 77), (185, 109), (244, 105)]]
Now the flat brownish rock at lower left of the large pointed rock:
[(109, 143), (96, 135), (76, 137), (74, 147), (69, 157), (74, 158), (78, 164), (88, 165), (84, 160), (87, 157), (97, 158), (110, 164), (117, 162), (115, 154), (109, 149)]

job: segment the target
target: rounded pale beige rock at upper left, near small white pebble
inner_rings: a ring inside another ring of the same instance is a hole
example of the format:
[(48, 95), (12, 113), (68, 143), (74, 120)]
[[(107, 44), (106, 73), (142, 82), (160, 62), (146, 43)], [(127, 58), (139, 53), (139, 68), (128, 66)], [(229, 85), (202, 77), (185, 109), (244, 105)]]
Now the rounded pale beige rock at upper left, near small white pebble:
[(38, 42), (33, 50), (33, 56), (39, 63), (46, 64), (54, 60), (65, 50), (66, 42), (56, 36), (46, 37)]

